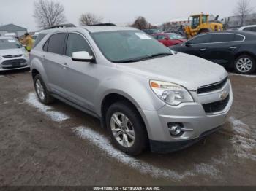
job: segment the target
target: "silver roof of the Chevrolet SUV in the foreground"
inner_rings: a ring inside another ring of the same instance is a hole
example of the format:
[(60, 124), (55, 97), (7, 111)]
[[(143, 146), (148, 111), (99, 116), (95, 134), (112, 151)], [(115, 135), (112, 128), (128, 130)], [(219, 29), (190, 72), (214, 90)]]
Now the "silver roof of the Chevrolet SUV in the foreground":
[(41, 31), (41, 33), (53, 33), (58, 31), (80, 31), (86, 29), (89, 33), (105, 32), (105, 31), (139, 31), (137, 28), (128, 26), (80, 26), (80, 27), (67, 27), (67, 28), (53, 28)]

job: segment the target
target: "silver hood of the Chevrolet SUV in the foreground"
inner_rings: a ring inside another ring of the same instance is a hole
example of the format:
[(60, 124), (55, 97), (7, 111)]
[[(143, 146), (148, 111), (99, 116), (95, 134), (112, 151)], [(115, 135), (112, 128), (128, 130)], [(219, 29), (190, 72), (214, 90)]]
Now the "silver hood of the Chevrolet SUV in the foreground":
[(125, 67), (125, 71), (143, 75), (148, 80), (173, 82), (193, 91), (227, 77), (227, 71), (217, 63), (184, 53), (135, 63), (120, 63), (118, 67)]

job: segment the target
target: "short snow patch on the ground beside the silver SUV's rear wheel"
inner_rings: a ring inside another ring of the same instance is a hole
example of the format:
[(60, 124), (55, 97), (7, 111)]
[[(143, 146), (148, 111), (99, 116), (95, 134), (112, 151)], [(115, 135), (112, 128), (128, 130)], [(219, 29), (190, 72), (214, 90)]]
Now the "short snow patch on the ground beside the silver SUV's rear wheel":
[(51, 120), (53, 120), (55, 122), (62, 122), (64, 120), (69, 119), (69, 116), (67, 116), (67, 114), (64, 114), (63, 112), (53, 111), (53, 107), (45, 106), (44, 104), (41, 104), (38, 101), (37, 95), (35, 93), (29, 93), (25, 102), (31, 106), (34, 106), (40, 112), (46, 114), (48, 117), (50, 117)]

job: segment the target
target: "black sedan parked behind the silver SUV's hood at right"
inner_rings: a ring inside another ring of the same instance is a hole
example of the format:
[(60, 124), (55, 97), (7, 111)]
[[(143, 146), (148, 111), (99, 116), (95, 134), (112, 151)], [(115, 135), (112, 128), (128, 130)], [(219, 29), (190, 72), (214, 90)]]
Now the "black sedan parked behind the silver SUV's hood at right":
[(201, 34), (189, 41), (170, 47), (234, 68), (240, 74), (252, 74), (256, 62), (256, 34), (246, 31), (225, 31)]

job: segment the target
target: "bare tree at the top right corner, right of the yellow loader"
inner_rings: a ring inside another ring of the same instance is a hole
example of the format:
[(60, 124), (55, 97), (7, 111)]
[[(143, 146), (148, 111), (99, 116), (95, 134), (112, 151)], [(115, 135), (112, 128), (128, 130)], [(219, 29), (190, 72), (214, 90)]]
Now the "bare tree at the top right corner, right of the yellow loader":
[(235, 9), (235, 15), (239, 17), (239, 23), (244, 26), (246, 17), (253, 12), (253, 7), (250, 5), (249, 0), (240, 0)]

